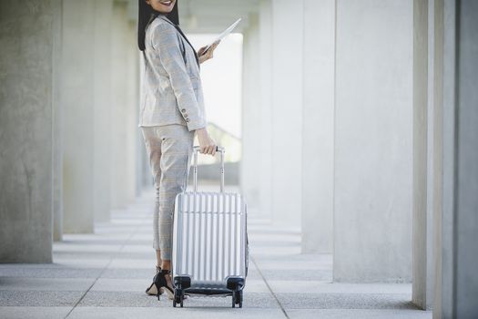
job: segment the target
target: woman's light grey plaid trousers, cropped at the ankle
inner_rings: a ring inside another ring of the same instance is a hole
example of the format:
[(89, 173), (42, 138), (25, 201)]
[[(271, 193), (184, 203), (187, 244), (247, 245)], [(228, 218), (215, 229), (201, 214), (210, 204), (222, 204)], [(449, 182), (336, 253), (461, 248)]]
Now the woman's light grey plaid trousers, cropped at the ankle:
[(174, 202), (188, 184), (194, 131), (178, 124), (141, 129), (156, 189), (153, 248), (161, 250), (161, 259), (170, 261)]

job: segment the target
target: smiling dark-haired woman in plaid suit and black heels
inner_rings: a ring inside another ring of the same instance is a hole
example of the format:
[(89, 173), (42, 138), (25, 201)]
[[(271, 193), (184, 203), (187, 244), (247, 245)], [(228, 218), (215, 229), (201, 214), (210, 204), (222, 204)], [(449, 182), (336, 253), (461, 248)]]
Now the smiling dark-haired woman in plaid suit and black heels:
[(137, 40), (144, 55), (139, 127), (145, 140), (156, 188), (153, 248), (157, 273), (146, 293), (166, 291), (170, 278), (172, 226), (176, 195), (186, 189), (194, 135), (200, 152), (215, 155), (208, 135), (199, 64), (213, 56), (215, 43), (198, 53), (179, 28), (177, 0), (138, 0)]

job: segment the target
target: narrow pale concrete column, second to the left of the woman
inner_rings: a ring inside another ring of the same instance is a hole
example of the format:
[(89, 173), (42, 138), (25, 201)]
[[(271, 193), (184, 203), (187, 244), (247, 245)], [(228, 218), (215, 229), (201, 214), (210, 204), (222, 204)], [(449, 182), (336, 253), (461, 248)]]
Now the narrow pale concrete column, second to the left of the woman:
[(95, 221), (109, 221), (110, 117), (111, 92), (111, 22), (113, 1), (95, 2)]

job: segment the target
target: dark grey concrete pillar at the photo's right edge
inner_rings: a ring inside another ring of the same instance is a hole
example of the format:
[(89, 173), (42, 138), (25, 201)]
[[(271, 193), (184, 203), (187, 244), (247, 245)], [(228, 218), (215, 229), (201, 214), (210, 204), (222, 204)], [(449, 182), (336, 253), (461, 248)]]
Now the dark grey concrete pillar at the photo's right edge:
[(434, 318), (475, 318), (478, 314), (476, 15), (478, 3), (474, 1), (445, 1), (442, 269)]

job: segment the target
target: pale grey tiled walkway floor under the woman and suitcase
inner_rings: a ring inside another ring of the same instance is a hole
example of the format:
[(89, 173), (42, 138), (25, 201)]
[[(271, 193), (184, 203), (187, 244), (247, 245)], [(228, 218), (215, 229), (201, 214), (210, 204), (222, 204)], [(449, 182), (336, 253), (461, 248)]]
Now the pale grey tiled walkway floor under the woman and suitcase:
[(173, 308), (144, 293), (154, 275), (152, 193), (95, 234), (68, 234), (52, 264), (0, 264), (0, 318), (432, 318), (410, 284), (331, 283), (331, 255), (300, 254), (300, 235), (249, 216), (251, 259), (242, 309), (230, 297)]

